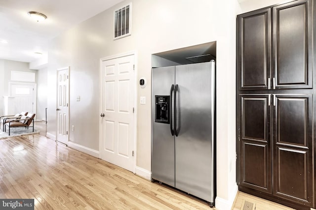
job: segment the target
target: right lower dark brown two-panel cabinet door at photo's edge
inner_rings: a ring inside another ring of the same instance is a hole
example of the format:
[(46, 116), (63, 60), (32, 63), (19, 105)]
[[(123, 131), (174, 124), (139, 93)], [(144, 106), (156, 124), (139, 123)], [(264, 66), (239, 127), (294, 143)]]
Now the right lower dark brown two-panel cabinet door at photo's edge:
[(275, 94), (273, 98), (273, 194), (312, 207), (312, 94)]

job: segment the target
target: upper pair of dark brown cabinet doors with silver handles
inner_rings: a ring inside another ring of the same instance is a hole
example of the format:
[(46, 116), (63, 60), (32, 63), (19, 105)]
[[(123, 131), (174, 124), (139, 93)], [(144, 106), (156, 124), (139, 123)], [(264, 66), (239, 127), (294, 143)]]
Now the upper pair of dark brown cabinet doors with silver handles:
[(311, 14), (298, 0), (238, 16), (239, 90), (312, 88)]

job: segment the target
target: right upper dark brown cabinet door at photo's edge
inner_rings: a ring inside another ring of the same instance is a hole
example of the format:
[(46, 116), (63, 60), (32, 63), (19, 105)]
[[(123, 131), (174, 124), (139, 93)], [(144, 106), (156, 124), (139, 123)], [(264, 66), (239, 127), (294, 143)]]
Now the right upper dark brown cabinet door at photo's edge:
[(312, 88), (312, 3), (273, 7), (273, 89)]

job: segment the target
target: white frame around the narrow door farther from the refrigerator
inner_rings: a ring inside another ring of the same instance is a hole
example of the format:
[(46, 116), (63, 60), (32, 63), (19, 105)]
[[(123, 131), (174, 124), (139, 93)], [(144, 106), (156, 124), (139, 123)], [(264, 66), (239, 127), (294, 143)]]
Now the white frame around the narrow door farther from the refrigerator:
[[(68, 70), (68, 90), (67, 90), (67, 94), (68, 94), (68, 123), (66, 123), (66, 129), (68, 130), (68, 135), (67, 135), (67, 144), (69, 142), (69, 124), (70, 124), (70, 66), (67, 67), (63, 67), (63, 68), (58, 68), (56, 70), (56, 109), (58, 107), (58, 71), (62, 71), (62, 70)], [(58, 113), (56, 110), (56, 139), (55, 141), (58, 141)], [(59, 142), (59, 141), (58, 141)], [(61, 142), (60, 142), (61, 143)]]

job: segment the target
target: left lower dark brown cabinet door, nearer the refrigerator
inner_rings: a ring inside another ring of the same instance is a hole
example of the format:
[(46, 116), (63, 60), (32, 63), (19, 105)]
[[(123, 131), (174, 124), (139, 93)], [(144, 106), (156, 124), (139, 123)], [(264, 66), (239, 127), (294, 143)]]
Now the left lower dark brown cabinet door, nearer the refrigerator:
[(272, 193), (271, 94), (239, 94), (239, 185)]

